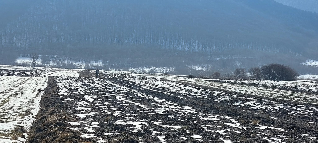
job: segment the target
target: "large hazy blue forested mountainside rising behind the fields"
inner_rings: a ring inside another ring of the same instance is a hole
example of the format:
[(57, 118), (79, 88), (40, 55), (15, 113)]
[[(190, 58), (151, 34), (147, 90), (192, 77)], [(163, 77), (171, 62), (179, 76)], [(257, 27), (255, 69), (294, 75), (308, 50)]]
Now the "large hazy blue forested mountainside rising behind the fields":
[(121, 68), (275, 62), (302, 69), (318, 60), (317, 1), (276, 1), (2, 0), (0, 63), (37, 52)]

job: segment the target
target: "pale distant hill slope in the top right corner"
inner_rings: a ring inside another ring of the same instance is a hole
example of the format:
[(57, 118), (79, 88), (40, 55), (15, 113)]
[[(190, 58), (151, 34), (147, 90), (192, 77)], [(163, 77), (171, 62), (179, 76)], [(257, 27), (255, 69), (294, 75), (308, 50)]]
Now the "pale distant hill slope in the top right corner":
[(318, 13), (318, 0), (275, 0), (276, 2), (301, 10)]

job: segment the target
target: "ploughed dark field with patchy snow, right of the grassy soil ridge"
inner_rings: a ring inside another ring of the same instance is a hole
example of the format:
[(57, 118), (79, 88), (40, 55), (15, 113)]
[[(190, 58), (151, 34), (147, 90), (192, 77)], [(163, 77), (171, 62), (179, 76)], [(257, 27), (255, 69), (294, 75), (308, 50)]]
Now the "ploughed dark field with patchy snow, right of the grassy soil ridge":
[(317, 141), (317, 106), (132, 74), (57, 77), (67, 122), (94, 142)]

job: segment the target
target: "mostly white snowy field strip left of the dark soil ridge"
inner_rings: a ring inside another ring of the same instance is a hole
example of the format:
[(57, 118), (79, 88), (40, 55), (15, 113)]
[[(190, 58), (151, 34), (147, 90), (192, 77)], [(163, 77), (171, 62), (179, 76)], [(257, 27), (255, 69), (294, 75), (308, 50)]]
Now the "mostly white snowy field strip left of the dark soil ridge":
[(47, 85), (47, 78), (0, 76), (0, 142), (24, 143), (24, 137), (13, 132), (18, 127), (26, 131), (31, 127), (40, 109), (41, 96)]

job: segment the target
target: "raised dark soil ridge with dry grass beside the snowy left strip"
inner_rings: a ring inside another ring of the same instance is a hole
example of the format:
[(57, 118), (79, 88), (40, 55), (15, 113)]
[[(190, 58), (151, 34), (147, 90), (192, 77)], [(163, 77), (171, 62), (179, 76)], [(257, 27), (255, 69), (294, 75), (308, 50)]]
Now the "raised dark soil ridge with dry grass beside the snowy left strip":
[(81, 133), (68, 129), (67, 122), (77, 120), (69, 116), (61, 102), (54, 77), (49, 77), (42, 96), (40, 111), (36, 115), (30, 133), (30, 143), (81, 143), (90, 142), (81, 138)]

